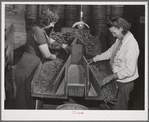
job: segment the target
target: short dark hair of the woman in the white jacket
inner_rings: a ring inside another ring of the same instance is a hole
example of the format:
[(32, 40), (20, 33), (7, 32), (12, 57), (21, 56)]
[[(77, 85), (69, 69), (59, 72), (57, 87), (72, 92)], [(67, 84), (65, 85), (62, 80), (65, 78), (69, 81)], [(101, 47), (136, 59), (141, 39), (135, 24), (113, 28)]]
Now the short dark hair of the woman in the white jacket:
[(111, 28), (111, 27), (116, 27), (116, 28), (122, 28), (122, 34), (126, 34), (129, 29), (131, 28), (131, 24), (128, 23), (125, 19), (121, 18), (121, 17), (114, 17), (112, 18), (108, 23), (107, 23), (107, 27)]

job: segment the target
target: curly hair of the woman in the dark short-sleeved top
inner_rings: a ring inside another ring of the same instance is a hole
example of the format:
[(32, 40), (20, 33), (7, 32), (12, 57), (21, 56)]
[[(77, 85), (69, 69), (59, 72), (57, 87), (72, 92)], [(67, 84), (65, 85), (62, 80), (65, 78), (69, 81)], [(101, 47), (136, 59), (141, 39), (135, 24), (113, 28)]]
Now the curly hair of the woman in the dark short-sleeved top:
[(54, 9), (43, 9), (38, 18), (38, 24), (42, 27), (49, 25), (51, 22), (58, 22), (59, 17)]

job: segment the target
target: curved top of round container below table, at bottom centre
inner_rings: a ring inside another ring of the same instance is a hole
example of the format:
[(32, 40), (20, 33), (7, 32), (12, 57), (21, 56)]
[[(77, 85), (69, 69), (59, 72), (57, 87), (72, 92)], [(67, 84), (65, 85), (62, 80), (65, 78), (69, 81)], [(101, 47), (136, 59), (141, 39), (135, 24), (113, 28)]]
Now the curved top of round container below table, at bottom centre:
[(56, 108), (57, 110), (89, 110), (87, 107), (79, 104), (63, 104)]

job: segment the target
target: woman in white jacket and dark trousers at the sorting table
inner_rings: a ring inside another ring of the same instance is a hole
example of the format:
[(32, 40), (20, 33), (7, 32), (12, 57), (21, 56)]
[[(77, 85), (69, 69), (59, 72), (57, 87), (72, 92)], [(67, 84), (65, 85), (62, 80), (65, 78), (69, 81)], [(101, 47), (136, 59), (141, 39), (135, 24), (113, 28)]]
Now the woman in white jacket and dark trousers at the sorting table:
[(123, 18), (115, 17), (107, 24), (116, 42), (104, 53), (89, 59), (89, 63), (110, 59), (113, 74), (106, 77), (102, 85), (116, 80), (119, 87), (117, 102), (112, 110), (127, 110), (130, 92), (138, 74), (139, 47), (136, 39), (129, 31), (131, 25)]

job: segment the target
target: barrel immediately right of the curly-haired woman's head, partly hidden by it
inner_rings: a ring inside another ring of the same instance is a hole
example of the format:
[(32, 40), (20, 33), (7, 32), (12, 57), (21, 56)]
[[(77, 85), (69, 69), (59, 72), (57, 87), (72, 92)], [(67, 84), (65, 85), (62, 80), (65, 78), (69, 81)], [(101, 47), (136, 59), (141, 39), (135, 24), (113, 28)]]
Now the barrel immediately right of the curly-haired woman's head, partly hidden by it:
[(53, 9), (57, 12), (57, 14), (59, 16), (59, 21), (56, 23), (54, 30), (55, 30), (55, 32), (60, 32), (61, 28), (64, 27), (65, 5), (53, 5)]

